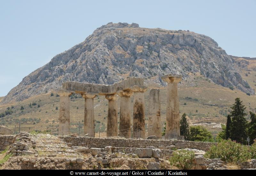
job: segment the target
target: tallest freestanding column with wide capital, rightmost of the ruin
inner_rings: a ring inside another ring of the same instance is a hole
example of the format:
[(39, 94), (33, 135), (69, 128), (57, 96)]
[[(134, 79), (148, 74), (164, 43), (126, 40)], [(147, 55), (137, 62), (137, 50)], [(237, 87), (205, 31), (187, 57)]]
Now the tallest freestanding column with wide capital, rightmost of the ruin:
[(178, 82), (182, 80), (182, 76), (168, 74), (163, 76), (162, 80), (168, 83), (165, 138), (178, 138), (180, 137)]

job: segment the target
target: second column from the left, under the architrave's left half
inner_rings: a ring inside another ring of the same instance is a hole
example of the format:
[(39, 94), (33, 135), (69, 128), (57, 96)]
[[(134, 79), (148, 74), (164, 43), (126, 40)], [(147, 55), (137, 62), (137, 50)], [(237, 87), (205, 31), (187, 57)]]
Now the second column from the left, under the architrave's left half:
[(93, 98), (97, 95), (81, 94), (84, 97), (84, 134), (88, 137), (95, 137), (94, 131), (94, 105)]

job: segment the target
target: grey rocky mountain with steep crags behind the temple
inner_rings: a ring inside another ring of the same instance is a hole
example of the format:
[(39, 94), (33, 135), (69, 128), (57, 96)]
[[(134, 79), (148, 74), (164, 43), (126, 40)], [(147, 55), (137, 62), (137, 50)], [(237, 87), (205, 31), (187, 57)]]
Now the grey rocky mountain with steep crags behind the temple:
[(165, 85), (164, 74), (181, 74), (186, 80), (196, 72), (216, 84), (254, 94), (233, 63), (217, 42), (202, 34), (108, 23), (23, 78), (1, 103), (59, 89), (64, 81), (113, 84), (139, 76), (147, 78), (145, 84)]

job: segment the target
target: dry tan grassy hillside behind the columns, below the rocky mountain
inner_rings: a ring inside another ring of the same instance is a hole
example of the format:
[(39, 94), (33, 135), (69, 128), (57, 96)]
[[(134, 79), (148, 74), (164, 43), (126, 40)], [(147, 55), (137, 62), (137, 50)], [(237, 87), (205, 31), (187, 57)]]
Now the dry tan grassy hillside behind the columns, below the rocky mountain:
[[(256, 71), (252, 70), (248, 76), (245, 76), (246, 72), (246, 70), (241, 72), (243, 78), (249, 82), (252, 88), (256, 88), (253, 83), (254, 80), (256, 81)], [(193, 87), (189, 87), (191, 84), (193, 84)], [(149, 87), (154, 87), (154, 85)], [(148, 123), (148, 94), (149, 90), (145, 94), (146, 125)], [(164, 127), (166, 88), (161, 88), (160, 94), (162, 126)], [(179, 97), (180, 115), (186, 113), (191, 125), (204, 125), (211, 130), (212, 133), (220, 131), (220, 123), (226, 123), (225, 116), (229, 113), (230, 106), (232, 106), (236, 97), (241, 98), (246, 106), (247, 112), (255, 111), (256, 108), (255, 95), (249, 96), (237, 89), (231, 90), (230, 88), (216, 85), (199, 73), (192, 75), (187, 81), (182, 81), (182, 84), (179, 86)], [(0, 100), (1, 99), (2, 97)], [(70, 100), (70, 130), (72, 133), (78, 133), (78, 123), (80, 122), (82, 127), (81, 134), (83, 134), (84, 98), (82, 98), (81, 95), (74, 95), (70, 97)], [(120, 99), (118, 101), (120, 101)], [(133, 113), (132, 101), (131, 116)], [(29, 107), (30, 103), (31, 106)], [(118, 103), (118, 105), (120, 105), (120, 103)], [(21, 106), (24, 107), (23, 110), (20, 110)], [(56, 97), (55, 92), (53, 96), (51, 96), (51, 93), (47, 93), (29, 98), (22, 102), (2, 105), (0, 106), (0, 114), (3, 113), (7, 107), (10, 107), (13, 113), (0, 118), (0, 124), (12, 130), (14, 130), (16, 125), (17, 132), (19, 130), (19, 121), (21, 121), (22, 131), (51, 130), (53, 134), (57, 134), (59, 97)], [(98, 136), (98, 129), (104, 131), (107, 126), (108, 101), (104, 96), (98, 96), (94, 99), (94, 112), (96, 120), (95, 129)], [(249, 116), (247, 118), (249, 119)], [(104, 132), (101, 132), (101, 137), (105, 135)]]

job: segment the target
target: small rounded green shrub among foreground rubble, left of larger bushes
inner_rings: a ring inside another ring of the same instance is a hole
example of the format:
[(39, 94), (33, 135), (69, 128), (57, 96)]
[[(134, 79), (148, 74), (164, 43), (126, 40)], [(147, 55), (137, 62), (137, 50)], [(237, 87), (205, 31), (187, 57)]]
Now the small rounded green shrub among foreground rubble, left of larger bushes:
[(174, 151), (169, 161), (171, 165), (174, 165), (179, 169), (189, 169), (192, 166), (194, 157), (195, 153), (193, 151), (182, 149)]

